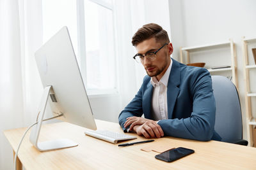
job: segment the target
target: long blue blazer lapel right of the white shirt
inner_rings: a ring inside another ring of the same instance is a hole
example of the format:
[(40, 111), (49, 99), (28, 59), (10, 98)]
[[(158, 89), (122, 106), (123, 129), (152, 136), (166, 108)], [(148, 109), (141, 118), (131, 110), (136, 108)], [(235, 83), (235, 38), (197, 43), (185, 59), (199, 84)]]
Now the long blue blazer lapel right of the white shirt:
[(175, 107), (176, 99), (179, 94), (180, 85), (180, 66), (179, 62), (172, 59), (172, 69), (167, 85), (167, 106), (168, 106), (168, 118), (172, 118), (173, 109)]

